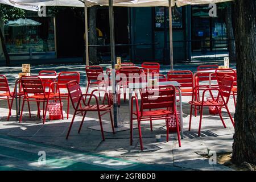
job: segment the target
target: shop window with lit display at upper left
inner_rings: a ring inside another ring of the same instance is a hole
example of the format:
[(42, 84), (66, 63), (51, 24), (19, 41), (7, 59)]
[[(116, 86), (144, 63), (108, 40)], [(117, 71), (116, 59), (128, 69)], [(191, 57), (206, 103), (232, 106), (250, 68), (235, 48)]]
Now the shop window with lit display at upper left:
[[(49, 17), (44, 21), (42, 18), (30, 19), (39, 22), (38, 25), (5, 25), (5, 40), (7, 51), (9, 53), (36, 53), (55, 51), (53, 18)], [(42, 26), (45, 27), (46, 24), (47, 30), (42, 28)]]

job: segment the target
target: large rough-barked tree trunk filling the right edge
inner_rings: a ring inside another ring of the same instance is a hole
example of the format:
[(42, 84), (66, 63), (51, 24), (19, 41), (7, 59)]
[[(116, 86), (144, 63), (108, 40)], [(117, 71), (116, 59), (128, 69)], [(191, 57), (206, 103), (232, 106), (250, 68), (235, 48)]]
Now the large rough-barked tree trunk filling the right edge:
[(232, 162), (256, 164), (256, 1), (235, 2), (237, 107)]

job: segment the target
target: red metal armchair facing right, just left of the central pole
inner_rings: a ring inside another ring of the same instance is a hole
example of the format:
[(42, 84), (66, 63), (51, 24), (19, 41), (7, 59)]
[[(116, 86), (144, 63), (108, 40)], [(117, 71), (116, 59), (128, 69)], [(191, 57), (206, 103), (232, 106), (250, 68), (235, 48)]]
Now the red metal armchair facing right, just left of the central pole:
[[(71, 98), (71, 103), (72, 103), (73, 109), (75, 109), (75, 113), (73, 114), (73, 118), (72, 118), (71, 124), (69, 126), (66, 139), (68, 139), (68, 137), (69, 137), (69, 133), (71, 131), (71, 128), (72, 128), (73, 122), (75, 120), (76, 114), (79, 114), (79, 113), (83, 114), (84, 113), (83, 117), (82, 117), (80, 127), (79, 127), (79, 131), (78, 131), (78, 133), (80, 133), (81, 128), (82, 128), (82, 123), (84, 122), (85, 115), (88, 111), (98, 112), (98, 118), (100, 120), (100, 126), (101, 126), (102, 140), (105, 140), (105, 137), (104, 137), (104, 130), (103, 130), (103, 127), (102, 127), (101, 116), (106, 114), (106, 113), (110, 114), (112, 131), (113, 131), (113, 134), (114, 134), (114, 123), (113, 123), (112, 111), (111, 111), (113, 106), (110, 105), (109, 95), (108, 95), (108, 92), (106, 92), (106, 90), (101, 90), (101, 91), (105, 92), (106, 98), (108, 98), (108, 105), (99, 105), (98, 104), (98, 98), (93, 94), (94, 92), (98, 92), (99, 90), (93, 90), (93, 92), (91, 94), (82, 94), (79, 82), (77, 82), (77, 81), (68, 82), (67, 83), (67, 88), (68, 88), (69, 97)], [(86, 103), (86, 100), (85, 100), (86, 96), (89, 97), (89, 101), (87, 103)], [(96, 105), (90, 105), (90, 101), (92, 100), (92, 97), (94, 97), (94, 99), (96, 101)], [(104, 113), (101, 114), (101, 111), (104, 111)]]

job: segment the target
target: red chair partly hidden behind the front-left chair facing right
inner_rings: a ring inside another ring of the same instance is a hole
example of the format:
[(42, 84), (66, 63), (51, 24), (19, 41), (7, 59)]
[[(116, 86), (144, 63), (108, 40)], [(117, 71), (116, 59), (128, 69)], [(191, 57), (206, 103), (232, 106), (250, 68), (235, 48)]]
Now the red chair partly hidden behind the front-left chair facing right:
[(80, 82), (80, 73), (79, 72), (60, 72), (58, 76), (57, 83), (59, 84), (60, 88), (60, 96), (61, 99), (67, 100), (67, 119), (69, 114), (69, 95), (67, 93), (67, 83), (69, 81), (76, 80)]

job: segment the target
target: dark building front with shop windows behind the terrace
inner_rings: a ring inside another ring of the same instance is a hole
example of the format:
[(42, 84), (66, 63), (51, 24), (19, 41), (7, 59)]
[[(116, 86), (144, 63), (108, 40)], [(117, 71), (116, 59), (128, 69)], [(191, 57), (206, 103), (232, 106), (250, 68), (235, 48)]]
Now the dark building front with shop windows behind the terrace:
[[(83, 9), (80, 9), (83, 11)], [(197, 53), (227, 51), (221, 7), (209, 17), (208, 6), (172, 9), (174, 61), (190, 61)], [(97, 9), (98, 59), (110, 60), (108, 7)], [(84, 56), (84, 20), (72, 9), (54, 17), (27, 13), (39, 26), (4, 26), (7, 50), (12, 59), (46, 59)], [(89, 20), (90, 21), (90, 20)], [(134, 63), (170, 63), (168, 7), (114, 7), (116, 54)]]

